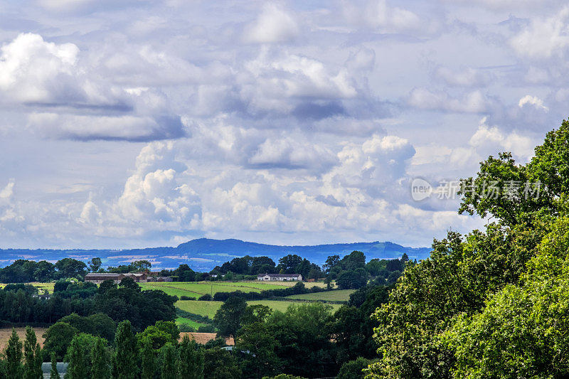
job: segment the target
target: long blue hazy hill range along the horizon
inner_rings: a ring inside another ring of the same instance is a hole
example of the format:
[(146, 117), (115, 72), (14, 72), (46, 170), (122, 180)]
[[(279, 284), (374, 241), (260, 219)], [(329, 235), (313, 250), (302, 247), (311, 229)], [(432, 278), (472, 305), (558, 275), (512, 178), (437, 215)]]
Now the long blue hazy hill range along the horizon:
[(359, 250), (366, 254), (368, 260), (372, 258), (394, 259), (403, 253), (412, 260), (422, 260), (430, 255), (427, 247), (405, 247), (393, 242), (356, 242), (336, 243), (331, 245), (307, 245), (307, 246), (281, 246), (265, 245), (256, 242), (242, 240), (212, 240), (210, 238), (198, 238), (177, 247), (149, 247), (146, 249), (129, 250), (48, 250), (48, 249), (1, 249), (0, 263), (2, 266), (9, 265), (14, 260), (49, 260), (55, 262), (64, 257), (78, 260), (90, 260), (92, 257), (100, 257), (104, 265), (123, 265), (132, 260), (149, 260), (153, 269), (178, 267), (187, 263), (192, 269), (209, 271), (216, 265), (232, 260), (234, 257), (244, 255), (266, 255), (275, 262), (284, 255), (297, 254), (301, 257), (322, 265), (329, 255), (346, 255), (353, 250)]

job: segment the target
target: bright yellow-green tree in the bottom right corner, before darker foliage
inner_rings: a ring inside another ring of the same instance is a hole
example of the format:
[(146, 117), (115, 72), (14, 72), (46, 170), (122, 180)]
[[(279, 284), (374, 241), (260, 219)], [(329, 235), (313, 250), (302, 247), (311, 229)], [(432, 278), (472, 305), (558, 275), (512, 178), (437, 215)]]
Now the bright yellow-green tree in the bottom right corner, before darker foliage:
[(492, 296), (483, 311), (455, 317), (442, 336), (456, 378), (569, 376), (569, 218), (553, 224), (521, 284)]

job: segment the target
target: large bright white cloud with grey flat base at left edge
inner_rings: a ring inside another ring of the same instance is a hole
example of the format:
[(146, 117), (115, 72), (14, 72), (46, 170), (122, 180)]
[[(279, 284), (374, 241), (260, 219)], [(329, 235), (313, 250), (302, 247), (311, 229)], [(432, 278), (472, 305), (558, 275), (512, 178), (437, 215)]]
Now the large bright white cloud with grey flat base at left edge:
[(0, 106), (32, 110), (28, 128), (46, 138), (151, 141), (185, 136), (164, 97), (149, 88), (117, 86), (90, 70), (80, 62), (75, 44), (20, 34), (1, 48)]

